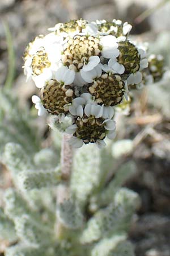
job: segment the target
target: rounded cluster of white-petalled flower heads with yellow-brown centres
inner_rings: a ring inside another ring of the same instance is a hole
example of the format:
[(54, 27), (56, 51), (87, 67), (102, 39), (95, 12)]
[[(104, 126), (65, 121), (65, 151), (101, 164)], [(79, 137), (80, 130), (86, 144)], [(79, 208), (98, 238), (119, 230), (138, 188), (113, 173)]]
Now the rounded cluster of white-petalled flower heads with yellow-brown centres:
[(142, 82), (148, 60), (129, 39), (130, 30), (121, 20), (71, 20), (49, 28), (25, 50), (25, 75), (40, 88), (40, 97), (32, 96), (38, 114), (70, 116), (66, 132), (74, 147), (102, 147), (105, 137), (114, 138), (114, 106), (128, 98), (128, 87)]

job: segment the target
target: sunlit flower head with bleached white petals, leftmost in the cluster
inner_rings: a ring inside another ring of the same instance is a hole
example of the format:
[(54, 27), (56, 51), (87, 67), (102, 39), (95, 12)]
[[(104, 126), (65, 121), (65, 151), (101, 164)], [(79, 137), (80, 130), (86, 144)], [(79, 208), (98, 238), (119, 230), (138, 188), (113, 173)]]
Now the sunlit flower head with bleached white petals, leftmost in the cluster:
[(36, 86), (42, 88), (46, 81), (52, 79), (53, 72), (62, 65), (60, 59), (63, 38), (49, 34), (37, 41), (29, 51), (30, 56), (25, 59), (24, 73), (27, 80), (32, 77)]

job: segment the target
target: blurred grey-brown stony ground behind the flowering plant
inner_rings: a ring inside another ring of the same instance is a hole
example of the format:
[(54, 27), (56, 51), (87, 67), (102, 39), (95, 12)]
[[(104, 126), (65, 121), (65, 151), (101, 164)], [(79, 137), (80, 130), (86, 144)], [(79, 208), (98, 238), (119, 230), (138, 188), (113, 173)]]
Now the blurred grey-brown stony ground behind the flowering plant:
[[(8, 51), (3, 26), (8, 24), (15, 50), (12, 93), (20, 105), (28, 105), (37, 92), (33, 82), (25, 82), (23, 53), (36, 35), (70, 19), (121, 19), (133, 25), (131, 37), (150, 44), (150, 53), (161, 53), (170, 67), (170, 1), (163, 0), (1, 0), (0, 1), (0, 86), (8, 73)], [(142, 14), (142, 15), (141, 15)], [(132, 159), (138, 167), (126, 187), (138, 192), (142, 206), (131, 227), (130, 240), (137, 256), (170, 256), (170, 78), (134, 92), (129, 117), (117, 120), (120, 154), (117, 165)], [(46, 119), (36, 119), (43, 147), (50, 145)], [(133, 149), (130, 142), (133, 142)], [(119, 144), (118, 144), (119, 143)], [(122, 144), (121, 144), (122, 143)], [(123, 150), (122, 150), (123, 149)], [(114, 150), (113, 150), (114, 154)], [(3, 188), (6, 184), (0, 184)]]

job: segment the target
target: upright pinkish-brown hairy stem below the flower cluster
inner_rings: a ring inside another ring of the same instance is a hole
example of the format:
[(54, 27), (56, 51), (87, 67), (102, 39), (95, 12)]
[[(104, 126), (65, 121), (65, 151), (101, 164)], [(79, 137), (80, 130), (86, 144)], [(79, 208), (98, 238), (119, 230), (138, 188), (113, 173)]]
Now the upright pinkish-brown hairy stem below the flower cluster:
[[(61, 145), (61, 177), (62, 183), (57, 188), (57, 205), (62, 204), (63, 201), (69, 199), (69, 181), (71, 177), (72, 163), (73, 163), (73, 148), (68, 141), (71, 138), (69, 134), (63, 134)], [(65, 233), (65, 226), (58, 220), (56, 223), (57, 239), (62, 240)]]

